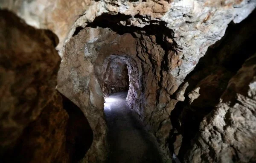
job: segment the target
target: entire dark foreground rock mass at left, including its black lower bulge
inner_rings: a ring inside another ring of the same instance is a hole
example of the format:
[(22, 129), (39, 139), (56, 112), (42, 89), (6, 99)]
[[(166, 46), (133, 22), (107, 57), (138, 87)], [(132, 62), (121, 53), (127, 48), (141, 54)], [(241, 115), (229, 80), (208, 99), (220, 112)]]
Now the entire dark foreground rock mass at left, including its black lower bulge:
[(77, 162), (93, 135), (81, 110), (55, 90), (58, 38), (0, 10), (0, 39), (0, 161)]

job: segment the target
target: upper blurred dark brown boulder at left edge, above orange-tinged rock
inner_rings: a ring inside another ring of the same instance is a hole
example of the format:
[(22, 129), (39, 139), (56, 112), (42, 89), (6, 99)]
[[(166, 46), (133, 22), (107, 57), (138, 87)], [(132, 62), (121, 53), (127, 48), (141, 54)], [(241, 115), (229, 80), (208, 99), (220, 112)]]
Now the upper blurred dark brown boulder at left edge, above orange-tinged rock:
[(6, 150), (52, 102), (61, 59), (52, 32), (36, 30), (8, 11), (0, 19), (0, 144)]

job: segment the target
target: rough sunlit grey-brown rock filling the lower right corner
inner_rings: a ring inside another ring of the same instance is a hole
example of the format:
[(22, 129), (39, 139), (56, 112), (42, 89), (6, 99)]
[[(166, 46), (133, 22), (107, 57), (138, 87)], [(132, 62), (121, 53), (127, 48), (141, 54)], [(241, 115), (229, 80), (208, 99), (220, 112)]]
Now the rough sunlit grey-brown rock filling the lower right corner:
[(255, 59), (256, 55), (247, 59), (230, 79), (221, 102), (201, 122), (185, 162), (256, 161)]

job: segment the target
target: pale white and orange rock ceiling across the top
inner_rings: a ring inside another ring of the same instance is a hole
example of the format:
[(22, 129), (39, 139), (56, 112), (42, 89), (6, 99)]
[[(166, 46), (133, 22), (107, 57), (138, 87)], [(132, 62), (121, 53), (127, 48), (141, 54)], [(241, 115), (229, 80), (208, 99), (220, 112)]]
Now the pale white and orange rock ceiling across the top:
[(174, 31), (178, 51), (177, 66), (170, 73), (180, 82), (193, 70), (207, 48), (223, 37), (233, 20), (241, 22), (255, 8), (253, 0), (2, 0), (1, 8), (8, 8), (29, 25), (48, 28), (60, 39), (57, 50), (63, 55), (76, 27), (85, 27), (103, 13), (129, 15), (119, 24), (143, 27), (166, 22)]

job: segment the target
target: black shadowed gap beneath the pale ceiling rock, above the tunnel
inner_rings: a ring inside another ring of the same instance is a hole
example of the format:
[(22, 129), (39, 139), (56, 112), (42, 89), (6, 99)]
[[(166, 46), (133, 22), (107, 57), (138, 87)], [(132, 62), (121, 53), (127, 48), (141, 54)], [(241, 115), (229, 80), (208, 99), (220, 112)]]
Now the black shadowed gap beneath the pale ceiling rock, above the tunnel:
[[(116, 15), (110, 15), (108, 13), (101, 14), (99, 17), (96, 17), (93, 22), (87, 22), (86, 27), (91, 28), (110, 28), (112, 31), (115, 31), (117, 34), (125, 34), (130, 33), (134, 38), (137, 38), (137, 36), (134, 34), (134, 32), (137, 32), (138, 34), (142, 33), (145, 35), (154, 35), (156, 36), (156, 42), (157, 44), (161, 45), (161, 47), (165, 51), (179, 51), (180, 47), (177, 45), (175, 41), (173, 42), (167, 42), (166, 39), (173, 38), (174, 32), (172, 29), (169, 29), (166, 27), (167, 23), (165, 21), (159, 21), (159, 20), (151, 20), (149, 25), (145, 25), (144, 27), (136, 27), (132, 25), (122, 25), (120, 24), (120, 21), (126, 22), (129, 24), (131, 21), (130, 18), (131, 15), (125, 15), (125, 14), (116, 14)], [(140, 21), (145, 21), (146, 17), (143, 17), (139, 14), (134, 16), (135, 19), (140, 19)], [(146, 48), (146, 47), (144, 47)]]

